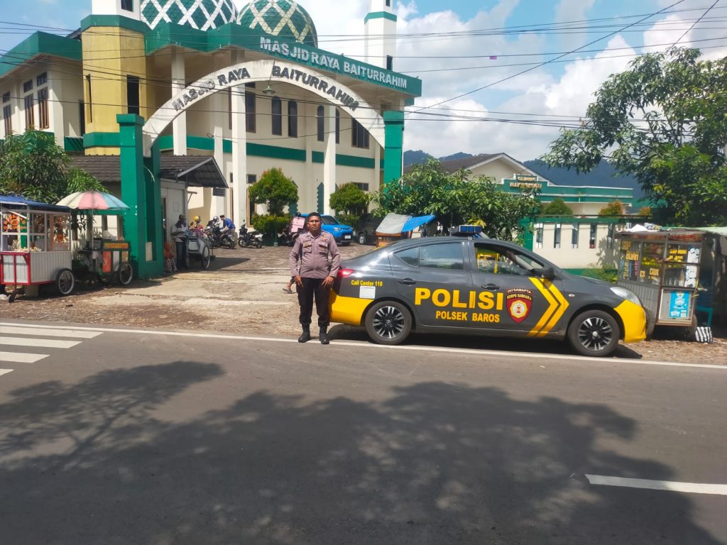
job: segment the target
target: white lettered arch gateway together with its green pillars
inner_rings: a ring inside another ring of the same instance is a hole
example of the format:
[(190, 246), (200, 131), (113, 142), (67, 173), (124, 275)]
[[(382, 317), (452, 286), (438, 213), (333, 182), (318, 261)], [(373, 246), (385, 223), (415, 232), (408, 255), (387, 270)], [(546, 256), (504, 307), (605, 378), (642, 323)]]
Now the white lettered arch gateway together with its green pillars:
[[(153, 143), (166, 126), (191, 105), (208, 95), (252, 81), (277, 81), (299, 86), (342, 108), (384, 148), (384, 182), (401, 176), (403, 112), (385, 111), (383, 117), (379, 116), (377, 110), (353, 89), (316, 70), (290, 62), (256, 60), (216, 70), (175, 94), (146, 123), (134, 114), (116, 116), (119, 122), (121, 198), (129, 205), (124, 214), (124, 236), (129, 241), (130, 261), (140, 278), (164, 273), (161, 188), (155, 179), (158, 176), (158, 153), (152, 153)], [(332, 116), (326, 117), (332, 124)], [(244, 140), (244, 127), (242, 135), (241, 140)], [(324, 183), (332, 190), (335, 140), (331, 137), (326, 140), (330, 151), (324, 154)], [(245, 153), (244, 148), (241, 153)]]

